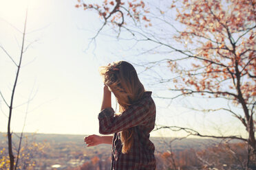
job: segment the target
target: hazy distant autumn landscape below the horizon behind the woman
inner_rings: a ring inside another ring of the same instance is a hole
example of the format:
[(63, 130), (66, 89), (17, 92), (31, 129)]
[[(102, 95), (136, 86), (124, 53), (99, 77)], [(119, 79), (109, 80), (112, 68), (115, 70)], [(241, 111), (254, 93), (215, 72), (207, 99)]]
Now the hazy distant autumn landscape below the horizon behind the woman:
[[(17, 136), (13, 136), (16, 149), (19, 141)], [(71, 134), (24, 134), (20, 158), (21, 169), (109, 169), (111, 145), (86, 147), (83, 138), (84, 135)], [(224, 141), (210, 138), (183, 138), (174, 141), (173, 139), (151, 137), (151, 141), (156, 146), (158, 169), (206, 169), (208, 167), (239, 169), (239, 162), (234, 159), (235, 157), (229, 158), (223, 150), (226, 148)], [(1, 157), (8, 156), (5, 133), (0, 133), (0, 141), (1, 160)], [(224, 144), (220, 144), (221, 142)], [(243, 156), (246, 155), (246, 149), (245, 145), (238, 142), (231, 141), (228, 146), (235, 147), (236, 159), (242, 161), (245, 160)], [(211, 153), (213, 150), (214, 154)], [(218, 161), (219, 165), (217, 165)]]

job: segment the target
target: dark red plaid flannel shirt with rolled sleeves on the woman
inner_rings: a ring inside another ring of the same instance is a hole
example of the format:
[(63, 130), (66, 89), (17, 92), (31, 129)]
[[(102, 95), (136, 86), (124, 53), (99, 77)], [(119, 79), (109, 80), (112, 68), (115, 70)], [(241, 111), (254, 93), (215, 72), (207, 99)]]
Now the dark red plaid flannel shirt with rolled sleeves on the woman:
[[(122, 114), (114, 114), (113, 108), (105, 108), (98, 114), (100, 134), (114, 134), (112, 141), (111, 169), (156, 169), (155, 146), (149, 140), (149, 132), (155, 126), (156, 105), (147, 91), (142, 99), (132, 104)], [(122, 154), (120, 131), (134, 128), (134, 143), (127, 154)]]

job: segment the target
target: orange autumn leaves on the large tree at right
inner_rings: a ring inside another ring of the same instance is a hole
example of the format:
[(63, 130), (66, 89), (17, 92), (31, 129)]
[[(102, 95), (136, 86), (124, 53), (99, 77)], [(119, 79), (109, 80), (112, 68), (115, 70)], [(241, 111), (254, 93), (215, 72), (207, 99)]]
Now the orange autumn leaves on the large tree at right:
[[(246, 102), (256, 95), (255, 1), (182, 1), (176, 20), (185, 29), (173, 38), (189, 45), (189, 69), (169, 62), (182, 93), (229, 97), (239, 90)], [(187, 67), (188, 68), (188, 67)], [(187, 89), (187, 90), (186, 90)]]

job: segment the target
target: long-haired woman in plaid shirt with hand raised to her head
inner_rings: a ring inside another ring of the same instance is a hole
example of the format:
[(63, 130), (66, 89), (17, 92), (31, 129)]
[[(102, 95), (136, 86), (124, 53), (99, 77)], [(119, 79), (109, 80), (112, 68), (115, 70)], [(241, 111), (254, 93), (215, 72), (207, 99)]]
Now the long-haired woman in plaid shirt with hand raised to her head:
[[(85, 137), (88, 147), (107, 143), (112, 145), (111, 169), (156, 169), (155, 147), (149, 133), (156, 121), (156, 106), (151, 92), (145, 91), (134, 66), (119, 61), (102, 66), (103, 103), (98, 114), (100, 134)], [(119, 112), (111, 108), (114, 93)]]

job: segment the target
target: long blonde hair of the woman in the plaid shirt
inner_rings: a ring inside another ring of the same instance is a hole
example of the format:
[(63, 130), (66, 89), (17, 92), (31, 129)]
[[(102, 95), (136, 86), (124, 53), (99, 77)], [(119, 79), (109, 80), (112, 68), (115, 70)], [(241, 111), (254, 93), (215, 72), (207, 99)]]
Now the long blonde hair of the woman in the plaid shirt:
[[(100, 75), (103, 75), (104, 84), (109, 86), (116, 96), (120, 112), (125, 111), (131, 104), (138, 101), (145, 92), (134, 66), (129, 62), (120, 61), (101, 66)], [(133, 127), (122, 130), (121, 141), (122, 153), (125, 154), (134, 143)]]

